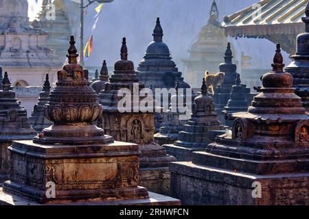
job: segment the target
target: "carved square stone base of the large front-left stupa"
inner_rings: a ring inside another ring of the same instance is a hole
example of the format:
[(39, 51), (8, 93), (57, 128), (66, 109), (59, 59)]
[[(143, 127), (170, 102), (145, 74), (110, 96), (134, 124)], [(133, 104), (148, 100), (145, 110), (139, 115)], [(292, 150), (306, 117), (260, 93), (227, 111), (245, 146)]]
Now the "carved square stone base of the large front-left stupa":
[[(3, 191), (38, 203), (148, 198), (139, 183), (137, 144), (45, 145), (14, 141), (10, 151), (10, 181)], [(56, 199), (46, 191), (54, 185)]]

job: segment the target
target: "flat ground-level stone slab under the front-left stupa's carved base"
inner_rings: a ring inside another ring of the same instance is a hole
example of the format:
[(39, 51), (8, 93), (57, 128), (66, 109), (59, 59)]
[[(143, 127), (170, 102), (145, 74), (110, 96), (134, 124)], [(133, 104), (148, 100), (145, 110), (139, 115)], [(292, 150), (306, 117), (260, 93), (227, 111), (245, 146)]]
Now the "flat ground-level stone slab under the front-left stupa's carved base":
[[(0, 205), (42, 205), (34, 201), (29, 201), (26, 198), (3, 192), (0, 188)], [(52, 203), (46, 205), (181, 205), (181, 201), (176, 198), (163, 196), (149, 192), (149, 198), (122, 200), (122, 201), (89, 201), (89, 202), (67, 202), (67, 203)]]

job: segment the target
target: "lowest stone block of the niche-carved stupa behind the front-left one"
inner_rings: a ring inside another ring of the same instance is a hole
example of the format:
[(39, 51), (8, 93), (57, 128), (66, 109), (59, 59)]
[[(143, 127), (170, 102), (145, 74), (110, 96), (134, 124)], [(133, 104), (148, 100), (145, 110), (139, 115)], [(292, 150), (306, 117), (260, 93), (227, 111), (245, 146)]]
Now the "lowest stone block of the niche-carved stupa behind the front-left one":
[(170, 170), (162, 168), (140, 168), (139, 185), (150, 192), (170, 196)]

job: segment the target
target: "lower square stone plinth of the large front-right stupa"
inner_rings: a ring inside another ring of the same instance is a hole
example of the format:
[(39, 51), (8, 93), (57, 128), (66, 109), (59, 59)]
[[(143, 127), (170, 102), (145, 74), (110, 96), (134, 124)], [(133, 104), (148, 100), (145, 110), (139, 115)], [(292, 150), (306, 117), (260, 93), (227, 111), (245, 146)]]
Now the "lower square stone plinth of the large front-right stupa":
[(183, 205), (309, 205), (309, 172), (253, 175), (192, 162), (170, 170), (171, 196)]

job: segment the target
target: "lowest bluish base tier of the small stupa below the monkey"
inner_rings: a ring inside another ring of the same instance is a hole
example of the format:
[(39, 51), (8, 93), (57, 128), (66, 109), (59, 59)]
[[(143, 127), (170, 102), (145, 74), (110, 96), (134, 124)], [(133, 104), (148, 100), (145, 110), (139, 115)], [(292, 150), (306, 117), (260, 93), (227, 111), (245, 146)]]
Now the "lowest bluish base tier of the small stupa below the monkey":
[(176, 157), (179, 162), (190, 162), (192, 161), (192, 153), (194, 151), (205, 150), (205, 148), (187, 148), (183, 146), (176, 146), (174, 144), (164, 144), (163, 147), (168, 155)]

